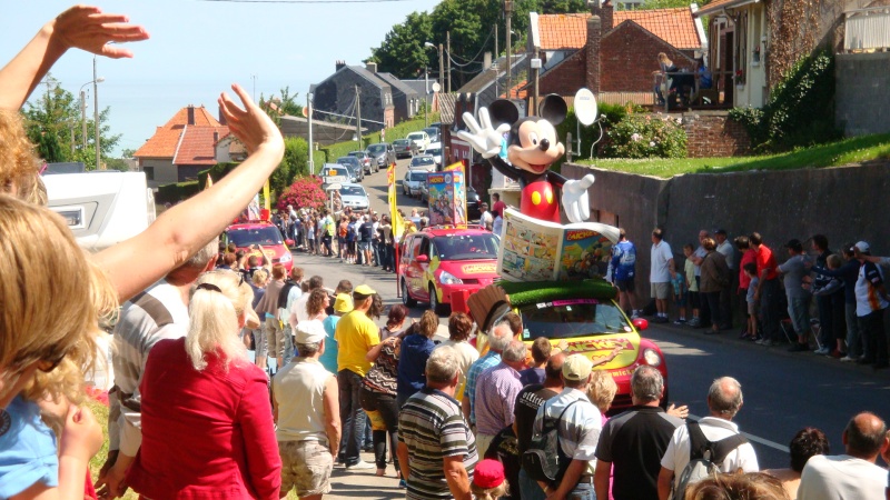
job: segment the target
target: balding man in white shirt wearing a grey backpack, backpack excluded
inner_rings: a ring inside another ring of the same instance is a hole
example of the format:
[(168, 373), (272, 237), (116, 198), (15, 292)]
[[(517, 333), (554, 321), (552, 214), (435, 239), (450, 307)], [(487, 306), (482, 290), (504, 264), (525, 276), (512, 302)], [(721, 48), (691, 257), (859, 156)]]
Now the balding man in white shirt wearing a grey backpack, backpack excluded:
[[(740, 434), (739, 426), (733, 423), (732, 419), (743, 402), (742, 384), (738, 380), (732, 377), (716, 379), (708, 391), (708, 408), (711, 414), (699, 420), (696, 426), (711, 442), (736, 437)], [(691, 426), (695, 424), (688, 423), (676, 428), (661, 459), (659, 500), (668, 500), (671, 494), (671, 483), (679, 484), (680, 474), (690, 462)], [(714, 460), (714, 464), (722, 472), (735, 472), (739, 469), (744, 472), (756, 472), (759, 466), (754, 448), (743, 437), (739, 437), (738, 441), (740, 444), (730, 450), (722, 461)]]

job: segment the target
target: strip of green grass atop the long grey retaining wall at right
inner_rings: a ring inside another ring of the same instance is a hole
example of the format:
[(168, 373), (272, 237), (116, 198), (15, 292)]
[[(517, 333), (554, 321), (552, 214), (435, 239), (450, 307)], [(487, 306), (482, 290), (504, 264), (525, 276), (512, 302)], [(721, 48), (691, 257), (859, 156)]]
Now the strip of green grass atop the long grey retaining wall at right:
[(595, 159), (580, 160), (578, 163), (605, 170), (668, 179), (684, 173), (818, 169), (887, 159), (890, 159), (890, 133), (854, 137), (828, 144), (798, 148), (780, 154), (761, 157)]

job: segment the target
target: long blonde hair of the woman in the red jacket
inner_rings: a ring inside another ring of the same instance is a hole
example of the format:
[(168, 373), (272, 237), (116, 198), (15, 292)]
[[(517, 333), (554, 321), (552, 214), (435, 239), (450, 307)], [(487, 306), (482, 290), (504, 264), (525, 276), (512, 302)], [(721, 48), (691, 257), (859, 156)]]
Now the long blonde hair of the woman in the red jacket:
[[(210, 287), (204, 288), (201, 284)], [(241, 283), (241, 277), (230, 270), (205, 272), (198, 278), (188, 304), (189, 328), (186, 352), (191, 366), (207, 368), (208, 357), (219, 357), (224, 367), (247, 361), (244, 342), (238, 339), (239, 320), (250, 307), (254, 291)], [(219, 291), (217, 291), (217, 289)]]

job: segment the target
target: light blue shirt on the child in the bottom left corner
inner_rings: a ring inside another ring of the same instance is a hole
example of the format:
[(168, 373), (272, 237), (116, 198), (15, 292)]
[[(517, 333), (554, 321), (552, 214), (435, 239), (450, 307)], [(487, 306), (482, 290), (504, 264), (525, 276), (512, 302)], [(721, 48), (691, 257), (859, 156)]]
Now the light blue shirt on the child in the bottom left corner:
[(11, 426), (0, 436), (0, 498), (14, 497), (38, 482), (58, 487), (56, 434), (40, 420), (40, 408), (18, 396), (6, 411)]

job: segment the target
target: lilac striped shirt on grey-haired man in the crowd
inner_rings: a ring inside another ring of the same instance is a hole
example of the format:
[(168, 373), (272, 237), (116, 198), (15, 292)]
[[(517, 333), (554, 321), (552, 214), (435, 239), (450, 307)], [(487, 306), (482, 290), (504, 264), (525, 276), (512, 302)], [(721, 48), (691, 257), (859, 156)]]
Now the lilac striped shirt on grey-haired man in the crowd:
[(520, 372), (503, 361), (476, 379), (476, 432), (495, 436), (513, 423), (513, 404), (522, 390)]

